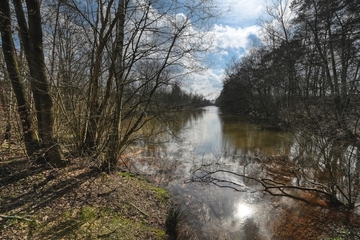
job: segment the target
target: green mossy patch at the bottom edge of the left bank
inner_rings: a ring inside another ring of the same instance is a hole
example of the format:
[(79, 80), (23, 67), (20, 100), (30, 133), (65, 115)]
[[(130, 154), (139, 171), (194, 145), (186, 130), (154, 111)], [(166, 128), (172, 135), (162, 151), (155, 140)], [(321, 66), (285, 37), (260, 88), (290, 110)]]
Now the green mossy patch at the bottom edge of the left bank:
[[(65, 211), (37, 227), (44, 239), (138, 239), (137, 235), (164, 239), (164, 230), (124, 216), (106, 207), (84, 206)], [(150, 235), (149, 235), (150, 234)]]

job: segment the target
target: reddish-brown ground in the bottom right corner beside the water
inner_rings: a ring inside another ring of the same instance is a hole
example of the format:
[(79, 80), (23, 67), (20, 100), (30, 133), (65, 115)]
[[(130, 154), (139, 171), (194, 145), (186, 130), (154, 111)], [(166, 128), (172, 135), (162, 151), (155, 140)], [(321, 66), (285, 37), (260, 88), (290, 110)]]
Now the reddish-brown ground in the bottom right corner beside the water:
[(360, 218), (345, 209), (296, 201), (292, 206), (281, 205), (274, 214), (271, 231), (276, 240), (358, 240)]

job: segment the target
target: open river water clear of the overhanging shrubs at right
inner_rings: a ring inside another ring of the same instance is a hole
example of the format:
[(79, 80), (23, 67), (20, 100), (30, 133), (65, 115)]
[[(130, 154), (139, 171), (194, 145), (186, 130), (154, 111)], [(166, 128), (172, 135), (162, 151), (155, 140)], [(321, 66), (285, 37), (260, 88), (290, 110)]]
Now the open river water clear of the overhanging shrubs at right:
[(148, 147), (137, 169), (164, 185), (186, 211), (192, 239), (271, 239), (270, 224), (279, 202), (239, 177), (224, 175), (243, 186), (234, 191), (192, 182), (194, 169), (221, 163), (235, 172), (255, 165), (257, 156), (289, 154), (290, 134), (271, 131), (217, 107), (188, 116), (161, 145)]

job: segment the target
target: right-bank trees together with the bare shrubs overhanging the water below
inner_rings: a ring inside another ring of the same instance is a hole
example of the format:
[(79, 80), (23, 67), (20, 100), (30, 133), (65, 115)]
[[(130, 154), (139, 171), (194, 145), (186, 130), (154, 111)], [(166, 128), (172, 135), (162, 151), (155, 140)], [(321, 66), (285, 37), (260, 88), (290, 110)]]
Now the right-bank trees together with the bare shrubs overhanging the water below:
[[(295, 186), (359, 200), (360, 9), (351, 0), (276, 0), (248, 54), (229, 64), (217, 105), (294, 133)], [(266, 185), (268, 187), (268, 185)]]

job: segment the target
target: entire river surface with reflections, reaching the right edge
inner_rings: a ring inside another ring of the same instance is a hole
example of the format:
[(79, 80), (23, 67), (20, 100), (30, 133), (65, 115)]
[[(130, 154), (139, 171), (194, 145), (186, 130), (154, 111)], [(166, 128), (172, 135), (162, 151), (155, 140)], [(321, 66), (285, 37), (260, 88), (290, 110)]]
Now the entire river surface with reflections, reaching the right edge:
[[(314, 225), (308, 232), (313, 233), (311, 239), (317, 239), (322, 233), (318, 223), (337, 214), (290, 198), (270, 198), (256, 191), (259, 182), (239, 175), (217, 175), (236, 183), (238, 191), (188, 182), (191, 170), (198, 166), (265, 176), (280, 184), (308, 184), (325, 190), (330, 186), (339, 199), (340, 193), (351, 203), (360, 196), (359, 146), (303, 133), (295, 136), (295, 141), (290, 134), (259, 128), (239, 117), (221, 114), (216, 107), (181, 117), (170, 114), (167, 119), (149, 122), (147, 127), (143, 139), (148, 141), (140, 145), (141, 151), (133, 151), (142, 152), (136, 167), (166, 186), (186, 206), (191, 229), (196, 230), (189, 239), (309, 239), (300, 237), (309, 235), (295, 224), (299, 219), (315, 219), (315, 224), (306, 226)], [(261, 155), (267, 157), (258, 157)], [(316, 179), (318, 185), (309, 179)], [(310, 200), (313, 197), (302, 194)], [(328, 204), (319, 198), (316, 201), (318, 205)]]

